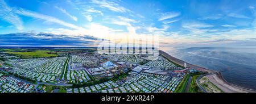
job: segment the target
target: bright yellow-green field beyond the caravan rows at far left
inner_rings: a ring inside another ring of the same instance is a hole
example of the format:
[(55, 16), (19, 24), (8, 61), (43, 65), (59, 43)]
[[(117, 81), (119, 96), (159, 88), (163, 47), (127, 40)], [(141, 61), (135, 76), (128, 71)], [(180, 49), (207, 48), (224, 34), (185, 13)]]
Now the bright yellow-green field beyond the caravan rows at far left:
[(8, 52), (20, 58), (39, 58), (39, 57), (57, 57), (56, 53), (48, 53), (52, 51), (32, 51), (32, 52)]

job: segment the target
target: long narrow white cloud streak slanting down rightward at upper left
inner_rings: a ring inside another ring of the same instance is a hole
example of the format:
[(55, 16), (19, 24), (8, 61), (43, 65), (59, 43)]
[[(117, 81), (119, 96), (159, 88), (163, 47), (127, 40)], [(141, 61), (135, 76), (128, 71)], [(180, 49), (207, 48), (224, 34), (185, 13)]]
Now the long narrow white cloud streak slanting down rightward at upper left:
[(70, 27), (70, 28), (82, 29), (79, 26), (76, 26), (76, 25), (71, 24), (71, 23), (64, 22), (63, 20), (57, 19), (57, 18), (55, 18), (53, 16), (39, 14), (39, 13), (35, 13), (35, 12), (29, 11), (29, 10), (18, 9), (18, 10), (16, 10), (16, 14), (30, 16), (32, 18), (37, 18), (37, 19), (46, 20), (47, 22), (57, 23), (57, 24), (60, 24), (62, 26), (66, 26), (66, 27)]

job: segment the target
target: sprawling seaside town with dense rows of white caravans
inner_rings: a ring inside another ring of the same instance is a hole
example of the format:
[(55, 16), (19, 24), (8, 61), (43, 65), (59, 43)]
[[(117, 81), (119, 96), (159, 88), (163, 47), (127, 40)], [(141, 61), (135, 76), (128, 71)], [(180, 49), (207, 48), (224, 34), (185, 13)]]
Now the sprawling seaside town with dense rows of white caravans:
[(25, 55), (31, 51), (40, 50), (1, 51), (2, 93), (174, 93), (184, 89), (184, 77), (197, 72), (162, 55), (147, 60), (150, 55), (99, 54), (96, 49)]

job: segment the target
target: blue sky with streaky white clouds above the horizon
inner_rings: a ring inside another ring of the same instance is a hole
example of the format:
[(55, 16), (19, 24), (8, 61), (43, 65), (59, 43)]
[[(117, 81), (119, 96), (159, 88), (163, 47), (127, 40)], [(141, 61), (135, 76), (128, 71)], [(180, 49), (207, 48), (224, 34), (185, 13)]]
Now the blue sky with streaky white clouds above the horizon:
[(254, 46), (255, 18), (251, 0), (0, 0), (0, 46), (85, 47), (155, 36), (159, 47)]

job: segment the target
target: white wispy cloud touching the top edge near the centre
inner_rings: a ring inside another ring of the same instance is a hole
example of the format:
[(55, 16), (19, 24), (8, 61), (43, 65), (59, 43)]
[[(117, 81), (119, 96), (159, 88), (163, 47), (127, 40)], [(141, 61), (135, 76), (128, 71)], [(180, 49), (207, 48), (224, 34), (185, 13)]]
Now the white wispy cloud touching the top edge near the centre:
[(95, 3), (102, 8), (106, 8), (106, 9), (109, 9), (109, 10), (112, 10), (115, 12), (126, 13), (126, 12), (130, 11), (129, 9), (126, 9), (123, 6), (120, 6), (117, 2), (114, 2), (114, 1), (92, 0), (92, 3)]

